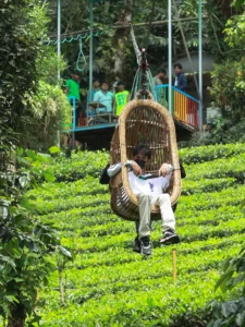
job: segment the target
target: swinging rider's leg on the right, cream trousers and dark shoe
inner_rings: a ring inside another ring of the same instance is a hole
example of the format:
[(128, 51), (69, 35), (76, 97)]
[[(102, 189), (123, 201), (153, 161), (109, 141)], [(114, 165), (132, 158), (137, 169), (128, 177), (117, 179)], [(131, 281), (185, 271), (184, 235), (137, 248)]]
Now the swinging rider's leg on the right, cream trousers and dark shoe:
[(170, 195), (167, 193), (159, 195), (156, 204), (160, 206), (162, 219), (163, 238), (160, 242), (166, 245), (179, 243), (180, 238), (175, 233), (175, 218), (171, 207)]

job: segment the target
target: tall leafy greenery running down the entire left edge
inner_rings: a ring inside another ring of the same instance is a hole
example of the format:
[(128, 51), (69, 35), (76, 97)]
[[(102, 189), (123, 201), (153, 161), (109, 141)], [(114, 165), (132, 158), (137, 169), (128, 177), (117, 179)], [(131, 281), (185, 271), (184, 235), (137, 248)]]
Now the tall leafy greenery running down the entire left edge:
[[(47, 22), (41, 1), (0, 3), (4, 35), (0, 47), (0, 315), (9, 327), (23, 327), (27, 317), (39, 319), (34, 308), (37, 289), (53, 269), (49, 256), (58, 252), (71, 257), (52, 226), (34, 218), (25, 197), (37, 181), (53, 180), (46, 168), (47, 155), (16, 152), (33, 124), (32, 98), (40, 87), (37, 58), (45, 50), (41, 39)], [(23, 165), (24, 170), (19, 171)]]

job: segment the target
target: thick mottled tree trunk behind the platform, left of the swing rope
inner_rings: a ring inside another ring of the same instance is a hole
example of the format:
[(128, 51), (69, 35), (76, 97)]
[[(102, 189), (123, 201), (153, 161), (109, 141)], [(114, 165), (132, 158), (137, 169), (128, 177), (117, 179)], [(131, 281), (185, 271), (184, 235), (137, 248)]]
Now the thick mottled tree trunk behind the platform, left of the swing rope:
[[(128, 24), (132, 22), (134, 0), (125, 0), (125, 7), (121, 10), (118, 25)], [(112, 45), (115, 49), (114, 74), (118, 78), (124, 77), (125, 50), (130, 37), (130, 27), (122, 27), (115, 31)]]

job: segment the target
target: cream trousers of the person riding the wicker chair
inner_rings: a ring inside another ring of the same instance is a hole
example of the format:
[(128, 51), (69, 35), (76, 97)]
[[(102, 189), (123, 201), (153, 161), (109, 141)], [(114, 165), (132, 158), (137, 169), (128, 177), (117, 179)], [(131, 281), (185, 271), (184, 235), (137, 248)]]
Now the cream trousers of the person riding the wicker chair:
[(140, 193), (139, 201), (139, 239), (150, 235), (150, 207), (158, 205), (161, 211), (162, 232), (167, 229), (175, 231), (175, 218), (171, 207), (170, 195), (164, 193), (158, 196)]

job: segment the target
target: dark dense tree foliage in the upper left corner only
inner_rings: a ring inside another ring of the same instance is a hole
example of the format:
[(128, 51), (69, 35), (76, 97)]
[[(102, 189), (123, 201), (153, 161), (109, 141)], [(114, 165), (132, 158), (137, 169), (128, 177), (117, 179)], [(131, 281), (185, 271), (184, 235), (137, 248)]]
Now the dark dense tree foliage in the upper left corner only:
[(17, 132), (29, 118), (26, 95), (36, 87), (35, 60), (45, 36), (47, 20), (39, 3), (7, 0), (0, 7), (0, 29), (4, 35), (0, 49), (1, 102), (5, 123)]

